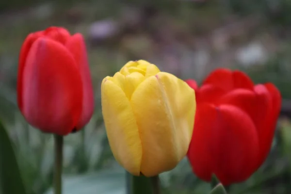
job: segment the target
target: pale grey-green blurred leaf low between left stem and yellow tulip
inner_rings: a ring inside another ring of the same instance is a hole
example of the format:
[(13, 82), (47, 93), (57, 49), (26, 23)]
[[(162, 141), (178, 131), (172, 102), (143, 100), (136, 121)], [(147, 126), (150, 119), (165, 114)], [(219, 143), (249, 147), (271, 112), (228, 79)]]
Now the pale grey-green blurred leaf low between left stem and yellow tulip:
[[(125, 194), (126, 174), (122, 168), (63, 177), (63, 194)], [(53, 194), (52, 188), (46, 194)]]

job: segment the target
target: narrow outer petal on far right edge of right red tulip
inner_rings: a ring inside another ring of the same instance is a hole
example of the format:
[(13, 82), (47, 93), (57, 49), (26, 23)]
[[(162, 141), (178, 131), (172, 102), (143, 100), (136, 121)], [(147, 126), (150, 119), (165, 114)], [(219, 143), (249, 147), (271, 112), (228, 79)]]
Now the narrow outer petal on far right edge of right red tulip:
[(270, 152), (282, 101), (281, 94), (274, 84), (266, 83), (264, 87), (270, 94), (270, 109), (268, 111), (268, 117), (264, 122), (265, 125), (259, 134), (261, 155), (258, 166), (264, 162)]

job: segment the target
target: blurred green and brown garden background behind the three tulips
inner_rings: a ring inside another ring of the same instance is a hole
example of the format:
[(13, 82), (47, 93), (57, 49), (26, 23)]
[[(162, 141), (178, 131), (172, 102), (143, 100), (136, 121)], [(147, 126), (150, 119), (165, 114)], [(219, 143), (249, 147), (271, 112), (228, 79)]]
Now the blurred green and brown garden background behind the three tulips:
[[(64, 194), (125, 194), (125, 171), (108, 145), (100, 83), (129, 60), (144, 59), (181, 79), (201, 81), (212, 69), (272, 81), (284, 98), (268, 160), (231, 194), (291, 193), (291, 0), (2, 0), (0, 120), (29, 194), (52, 194), (53, 137), (33, 129), (16, 105), (18, 54), (25, 37), (63, 26), (86, 38), (95, 114), (65, 137)], [(187, 159), (163, 173), (164, 194), (206, 194)]]

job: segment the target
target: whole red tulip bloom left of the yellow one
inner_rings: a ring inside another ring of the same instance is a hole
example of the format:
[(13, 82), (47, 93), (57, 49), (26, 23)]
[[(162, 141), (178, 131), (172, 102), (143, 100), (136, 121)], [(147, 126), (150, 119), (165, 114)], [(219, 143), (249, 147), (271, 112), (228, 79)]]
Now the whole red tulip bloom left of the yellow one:
[(59, 27), (34, 32), (19, 57), (17, 103), (44, 132), (66, 135), (93, 114), (94, 98), (84, 39)]

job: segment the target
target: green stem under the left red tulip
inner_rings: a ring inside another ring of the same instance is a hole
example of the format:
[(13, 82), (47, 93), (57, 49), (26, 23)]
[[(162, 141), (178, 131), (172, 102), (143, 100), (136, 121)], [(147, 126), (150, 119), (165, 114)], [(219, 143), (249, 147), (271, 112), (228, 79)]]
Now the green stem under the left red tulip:
[(55, 164), (54, 164), (54, 194), (62, 194), (62, 166), (63, 166), (63, 142), (64, 138), (54, 135)]

